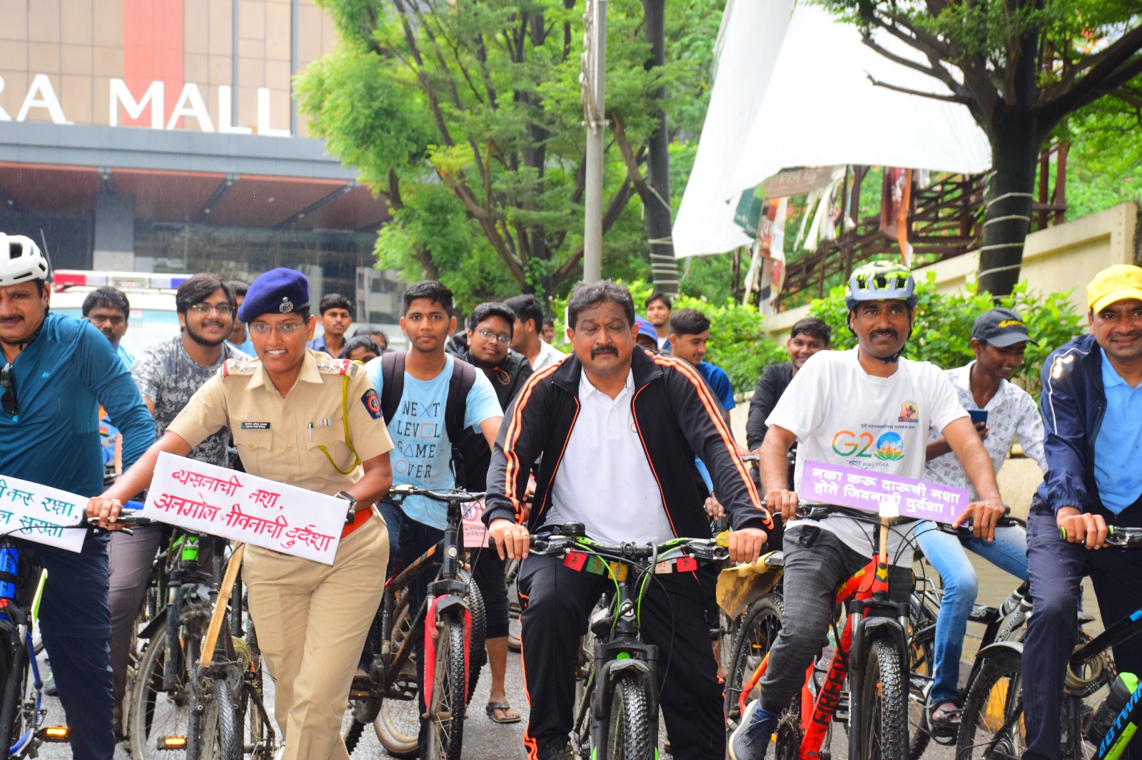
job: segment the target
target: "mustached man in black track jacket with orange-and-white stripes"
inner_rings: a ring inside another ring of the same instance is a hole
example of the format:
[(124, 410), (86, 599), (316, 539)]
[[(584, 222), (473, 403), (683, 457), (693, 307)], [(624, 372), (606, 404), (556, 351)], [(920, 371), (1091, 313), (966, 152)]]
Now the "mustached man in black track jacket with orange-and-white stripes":
[[(611, 581), (555, 557), (528, 557), (529, 531), (577, 522), (612, 544), (708, 537), (708, 493), (695, 456), (734, 527), (732, 560), (754, 561), (771, 526), (709, 388), (686, 362), (638, 347), (634, 316), (626, 289), (610, 281), (579, 285), (568, 304), (574, 355), (532, 375), (492, 452), (484, 522), (501, 556), (525, 558), (518, 587), (530, 760), (570, 757), (579, 637)], [(525, 519), (522, 500), (540, 455)], [(678, 760), (725, 757), (722, 687), (705, 616), (710, 569), (656, 574), (642, 603), (642, 636), (659, 647), (661, 706)]]

